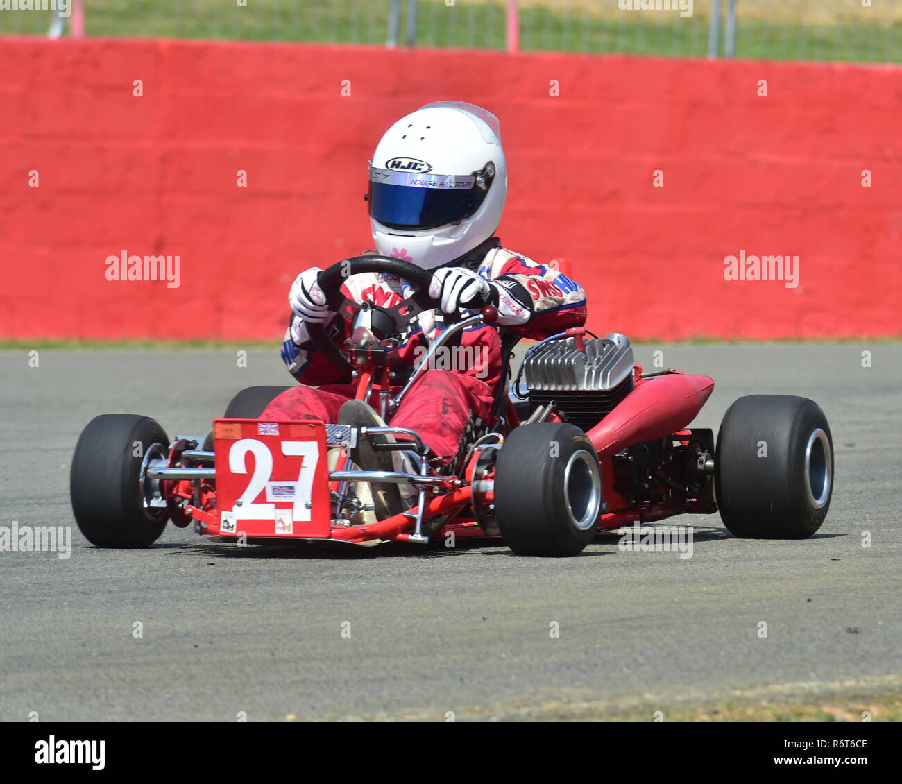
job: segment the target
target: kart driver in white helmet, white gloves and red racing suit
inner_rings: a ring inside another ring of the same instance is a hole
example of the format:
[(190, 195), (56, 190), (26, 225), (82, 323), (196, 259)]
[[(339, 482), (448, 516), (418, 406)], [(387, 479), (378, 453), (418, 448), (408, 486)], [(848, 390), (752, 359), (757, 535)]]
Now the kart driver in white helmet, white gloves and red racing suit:
[[(541, 339), (584, 324), (585, 293), (561, 272), (502, 247), (494, 232), (507, 197), (507, 166), (497, 117), (457, 101), (428, 104), (391, 126), (370, 163), (368, 196), (375, 253), (414, 263), (433, 272), (430, 296), (440, 309), (411, 318), (397, 354), (412, 366), (440, 334), (443, 313), (465, 303), (492, 304), (496, 324), (465, 329), (459, 356), (474, 357), (464, 367), (427, 369), (410, 387), (391, 425), (416, 430), (429, 447), (430, 465), (448, 466), (461, 447), (492, 424), (492, 404), (505, 383), (507, 357), (500, 332)], [(373, 251), (361, 255), (373, 254)], [(317, 283), (319, 267), (301, 272), (291, 285), (290, 327), (281, 356), (300, 386), (276, 397), (261, 418), (320, 420), (357, 427), (381, 427), (368, 405), (354, 401), (354, 388), (319, 355), (308, 323), (327, 325), (343, 345), (345, 317), (328, 309)], [(412, 291), (397, 277), (366, 272), (345, 279), (342, 291), (356, 302), (392, 307)], [(318, 387), (314, 388), (314, 387)], [(374, 437), (385, 438), (385, 437)], [(364, 470), (391, 471), (392, 455), (360, 439), (352, 452)], [(397, 458), (396, 458), (397, 459)], [(377, 490), (378, 488), (378, 490)], [(403, 511), (398, 486), (373, 488), (376, 517)]]

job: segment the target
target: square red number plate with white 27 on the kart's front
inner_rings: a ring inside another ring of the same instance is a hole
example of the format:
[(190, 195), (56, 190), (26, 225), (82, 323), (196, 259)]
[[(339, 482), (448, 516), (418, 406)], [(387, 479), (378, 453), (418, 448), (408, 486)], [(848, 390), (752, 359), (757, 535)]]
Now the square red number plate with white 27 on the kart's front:
[(321, 422), (215, 420), (213, 438), (221, 536), (328, 538)]

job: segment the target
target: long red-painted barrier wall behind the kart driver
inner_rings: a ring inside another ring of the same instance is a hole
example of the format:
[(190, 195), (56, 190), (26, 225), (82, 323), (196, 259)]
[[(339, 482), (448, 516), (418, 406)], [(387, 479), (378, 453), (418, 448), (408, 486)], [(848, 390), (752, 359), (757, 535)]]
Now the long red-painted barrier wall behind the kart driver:
[[(595, 330), (902, 334), (896, 67), (5, 38), (0, 337), (280, 337), (297, 272), (372, 246), (382, 131), (441, 98), (501, 117), (502, 240), (572, 259)], [(122, 251), (179, 287), (107, 281)], [(798, 285), (725, 281), (741, 251)]]

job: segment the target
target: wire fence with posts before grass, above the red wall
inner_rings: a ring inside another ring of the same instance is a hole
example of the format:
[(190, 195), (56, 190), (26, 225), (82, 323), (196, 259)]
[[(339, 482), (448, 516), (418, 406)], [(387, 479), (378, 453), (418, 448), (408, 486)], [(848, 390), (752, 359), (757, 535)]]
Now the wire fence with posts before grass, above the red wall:
[(504, 49), (515, 13), (525, 51), (902, 60), (902, 0), (8, 0), (0, 33), (78, 34), (13, 10), (51, 2), (87, 35)]

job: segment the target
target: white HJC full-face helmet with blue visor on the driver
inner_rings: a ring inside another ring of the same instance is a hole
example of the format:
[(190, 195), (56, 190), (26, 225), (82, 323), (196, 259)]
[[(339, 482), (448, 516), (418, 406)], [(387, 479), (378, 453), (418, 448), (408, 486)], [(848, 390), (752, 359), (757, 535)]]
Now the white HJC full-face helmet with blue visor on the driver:
[(434, 270), (468, 254), (494, 234), (507, 198), (498, 118), (460, 101), (402, 117), (373, 153), (368, 198), (380, 255)]

